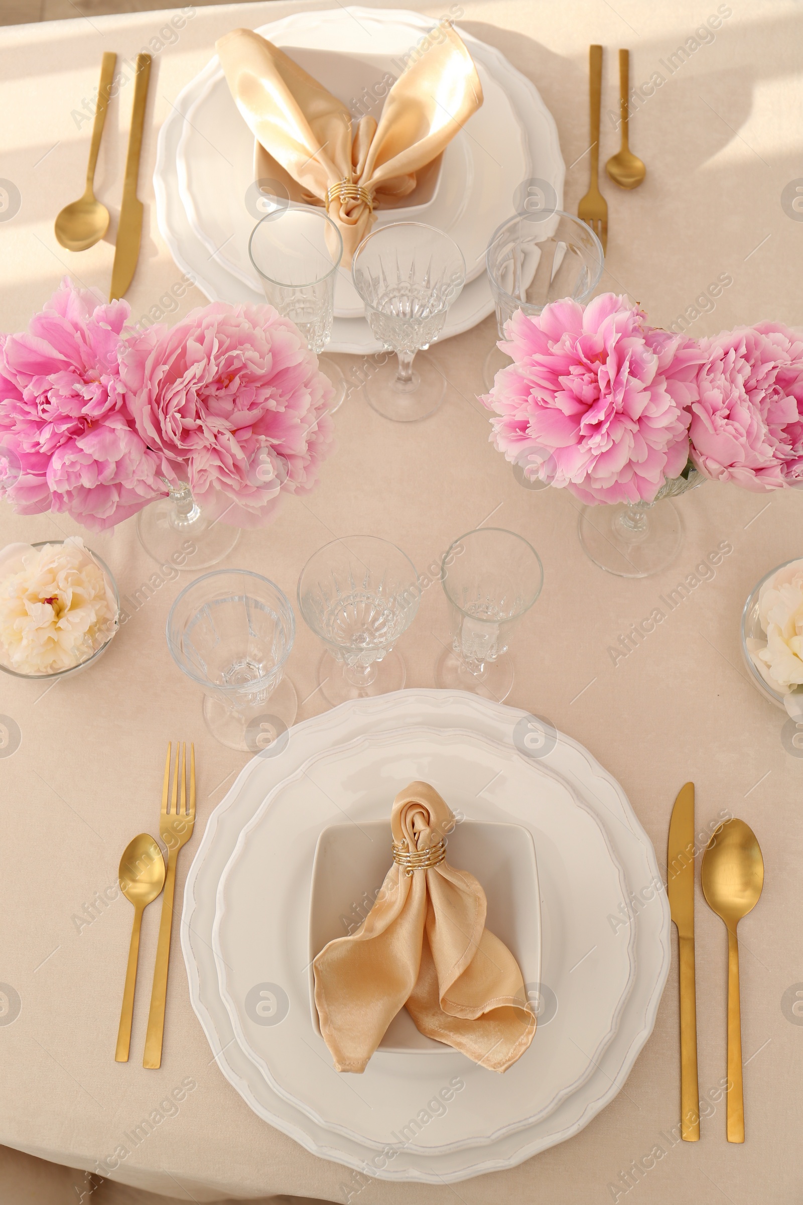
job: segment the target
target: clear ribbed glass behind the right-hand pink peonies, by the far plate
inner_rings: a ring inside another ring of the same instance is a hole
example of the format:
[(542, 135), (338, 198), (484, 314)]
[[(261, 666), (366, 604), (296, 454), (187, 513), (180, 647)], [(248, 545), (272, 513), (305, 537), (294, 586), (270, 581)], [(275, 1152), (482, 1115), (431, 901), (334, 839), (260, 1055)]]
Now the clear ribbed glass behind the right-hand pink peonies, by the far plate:
[[(497, 334), (504, 339), (504, 323), (516, 310), (537, 315), (561, 298), (585, 301), (600, 283), (604, 254), (594, 230), (573, 213), (541, 210), (516, 213), (494, 231), (485, 268)], [(494, 343), (483, 366), (486, 389), (509, 364), (510, 358)]]

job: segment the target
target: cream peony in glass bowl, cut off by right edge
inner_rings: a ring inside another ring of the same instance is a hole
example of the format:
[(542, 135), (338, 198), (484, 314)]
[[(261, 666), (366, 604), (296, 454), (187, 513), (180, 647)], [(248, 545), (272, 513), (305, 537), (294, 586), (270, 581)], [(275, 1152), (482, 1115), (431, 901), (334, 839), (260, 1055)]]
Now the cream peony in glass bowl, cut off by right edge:
[[(786, 698), (803, 686), (803, 560), (779, 569), (758, 592), (758, 622), (767, 642), (749, 640), (748, 651), (764, 682)], [(797, 704), (797, 699), (795, 704)]]

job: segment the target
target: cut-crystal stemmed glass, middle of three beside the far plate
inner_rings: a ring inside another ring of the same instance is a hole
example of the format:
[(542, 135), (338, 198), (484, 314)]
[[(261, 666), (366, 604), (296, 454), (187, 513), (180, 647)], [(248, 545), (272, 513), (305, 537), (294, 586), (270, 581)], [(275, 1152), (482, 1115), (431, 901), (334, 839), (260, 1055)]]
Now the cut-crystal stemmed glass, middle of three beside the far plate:
[(426, 418), (441, 405), (447, 381), (431, 358), (419, 357), (415, 368), (413, 360), (439, 336), (460, 296), (466, 281), (460, 247), (423, 222), (394, 222), (362, 240), (352, 275), (374, 337), (398, 358), (364, 386), (368, 405), (397, 423)]

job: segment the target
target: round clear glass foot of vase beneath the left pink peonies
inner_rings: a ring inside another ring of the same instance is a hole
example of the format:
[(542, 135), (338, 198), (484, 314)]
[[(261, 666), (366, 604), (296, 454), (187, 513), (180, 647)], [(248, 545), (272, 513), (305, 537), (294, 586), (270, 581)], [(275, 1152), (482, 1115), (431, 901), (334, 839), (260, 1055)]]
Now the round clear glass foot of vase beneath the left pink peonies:
[(136, 529), (148, 556), (182, 570), (217, 565), (240, 539), (240, 528), (209, 518), (189, 489), (150, 502), (137, 515)]

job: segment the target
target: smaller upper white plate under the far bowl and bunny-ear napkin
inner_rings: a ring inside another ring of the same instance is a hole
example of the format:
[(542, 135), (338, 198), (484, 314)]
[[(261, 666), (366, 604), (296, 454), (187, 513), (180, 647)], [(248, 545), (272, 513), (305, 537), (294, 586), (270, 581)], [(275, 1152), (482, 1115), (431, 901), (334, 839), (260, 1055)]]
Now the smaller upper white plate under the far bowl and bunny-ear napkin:
[[(343, 13), (320, 14), (314, 25), (277, 31), (262, 25), (256, 33), (288, 51), (294, 61), (314, 75), (348, 105), (365, 81), (398, 75), (391, 53), (377, 53), (377, 27), (383, 45), (396, 55), (409, 47), (409, 25), (377, 20), (350, 24), (343, 47)], [(392, 35), (392, 36), (391, 36)], [(413, 210), (379, 210), (377, 225), (415, 221), (444, 230), (466, 260), (466, 281), (485, 271), (485, 248), (494, 230), (508, 217), (516, 186), (529, 175), (524, 130), (510, 101), (484, 64), (477, 70), (484, 102), (445, 149), (435, 196)], [(248, 240), (256, 218), (246, 205), (253, 195), (254, 136), (241, 117), (226, 83), (220, 60), (202, 72), (203, 88), (194, 101), (178, 143), (178, 188), (190, 225), (209, 254), (238, 281), (261, 292), (248, 257)], [(219, 149), (218, 149), (219, 148)], [(222, 170), (232, 164), (234, 170)], [(492, 181), (489, 188), (486, 178)], [(335, 284), (335, 316), (361, 318), (365, 306), (347, 268)]]

